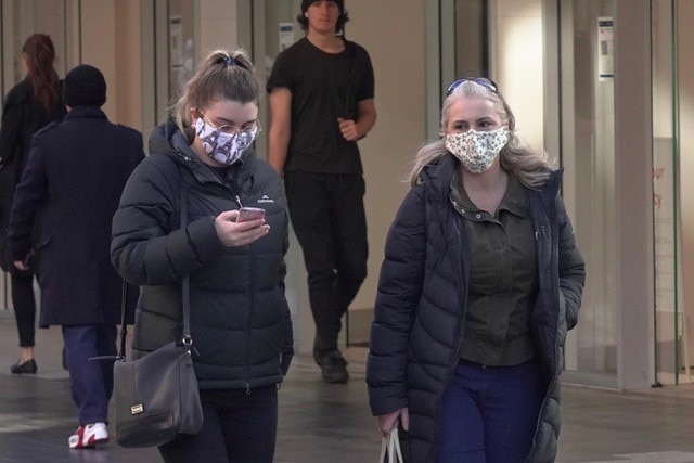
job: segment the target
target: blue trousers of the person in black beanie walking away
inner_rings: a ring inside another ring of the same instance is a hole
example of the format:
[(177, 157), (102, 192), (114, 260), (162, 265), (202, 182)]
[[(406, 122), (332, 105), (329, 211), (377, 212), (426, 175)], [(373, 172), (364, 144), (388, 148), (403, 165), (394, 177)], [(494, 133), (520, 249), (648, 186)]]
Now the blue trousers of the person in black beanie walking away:
[(90, 357), (116, 356), (116, 326), (110, 324), (63, 326), (67, 370), (73, 400), (79, 409), (79, 425), (108, 423), (113, 393), (113, 360)]

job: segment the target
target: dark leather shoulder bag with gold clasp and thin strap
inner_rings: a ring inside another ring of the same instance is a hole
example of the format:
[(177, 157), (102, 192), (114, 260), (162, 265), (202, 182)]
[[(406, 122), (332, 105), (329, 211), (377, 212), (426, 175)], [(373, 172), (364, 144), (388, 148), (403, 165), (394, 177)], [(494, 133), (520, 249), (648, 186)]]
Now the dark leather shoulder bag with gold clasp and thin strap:
[[(181, 185), (184, 191), (184, 187)], [(181, 195), (181, 228), (185, 197)], [(183, 335), (146, 356), (126, 360), (126, 294), (124, 281), (120, 351), (114, 362), (116, 441), (131, 448), (155, 447), (179, 435), (194, 435), (203, 426), (197, 378), (193, 370), (190, 331), (190, 282), (183, 279)]]

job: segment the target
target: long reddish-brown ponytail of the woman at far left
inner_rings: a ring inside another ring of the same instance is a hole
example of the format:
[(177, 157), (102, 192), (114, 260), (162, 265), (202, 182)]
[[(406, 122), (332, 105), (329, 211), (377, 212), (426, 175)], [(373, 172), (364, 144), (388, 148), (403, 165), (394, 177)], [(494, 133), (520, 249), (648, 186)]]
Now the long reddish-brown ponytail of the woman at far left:
[(22, 52), (34, 87), (34, 98), (46, 110), (53, 110), (60, 102), (59, 78), (53, 68), (55, 48), (50, 36), (34, 34), (24, 42)]

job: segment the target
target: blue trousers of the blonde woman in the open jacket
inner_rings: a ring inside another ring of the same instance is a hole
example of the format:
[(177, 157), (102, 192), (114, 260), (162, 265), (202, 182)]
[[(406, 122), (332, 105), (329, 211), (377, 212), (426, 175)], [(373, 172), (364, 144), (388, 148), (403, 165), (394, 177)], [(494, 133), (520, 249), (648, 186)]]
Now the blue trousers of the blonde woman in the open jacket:
[(539, 363), (461, 360), (444, 394), (438, 463), (523, 463), (543, 397)]

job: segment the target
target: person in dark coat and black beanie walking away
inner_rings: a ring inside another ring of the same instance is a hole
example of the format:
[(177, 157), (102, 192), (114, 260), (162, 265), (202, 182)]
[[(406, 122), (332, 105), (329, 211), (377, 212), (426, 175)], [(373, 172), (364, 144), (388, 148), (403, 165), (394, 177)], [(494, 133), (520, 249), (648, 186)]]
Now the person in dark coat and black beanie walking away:
[[(144, 151), (139, 131), (110, 123), (101, 110), (106, 81), (98, 68), (70, 70), (63, 101), (65, 119), (38, 131), (31, 142), (12, 203), (8, 244), (14, 266), (25, 270), (40, 209), (39, 325), (62, 326), (79, 409), (79, 426), (68, 445), (81, 449), (108, 441), (113, 362), (89, 358), (116, 355), (121, 279), (111, 265), (111, 220)], [(133, 290), (129, 298), (136, 296)]]

